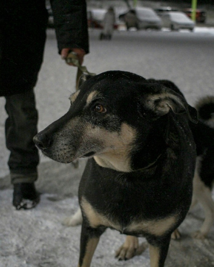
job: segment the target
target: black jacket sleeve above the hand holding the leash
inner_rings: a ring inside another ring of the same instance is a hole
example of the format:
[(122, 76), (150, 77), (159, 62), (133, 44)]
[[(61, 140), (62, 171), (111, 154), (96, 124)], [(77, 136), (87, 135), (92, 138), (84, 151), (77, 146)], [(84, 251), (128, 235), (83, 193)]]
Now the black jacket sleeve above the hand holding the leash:
[(82, 48), (89, 53), (85, 0), (51, 0), (59, 53), (62, 48)]

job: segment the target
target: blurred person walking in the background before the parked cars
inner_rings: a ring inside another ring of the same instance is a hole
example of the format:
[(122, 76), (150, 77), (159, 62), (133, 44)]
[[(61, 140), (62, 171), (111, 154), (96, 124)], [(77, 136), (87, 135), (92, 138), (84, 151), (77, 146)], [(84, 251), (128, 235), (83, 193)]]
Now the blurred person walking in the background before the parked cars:
[(113, 7), (109, 7), (108, 11), (105, 13), (103, 20), (103, 31), (100, 34), (100, 40), (111, 39), (114, 31), (115, 24), (115, 13)]

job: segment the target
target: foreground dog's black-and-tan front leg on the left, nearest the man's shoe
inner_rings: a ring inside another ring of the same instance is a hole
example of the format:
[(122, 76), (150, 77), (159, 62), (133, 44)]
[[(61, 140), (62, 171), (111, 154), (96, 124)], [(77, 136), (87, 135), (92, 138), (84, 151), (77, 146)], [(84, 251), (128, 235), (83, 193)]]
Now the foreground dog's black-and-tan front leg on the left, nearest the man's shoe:
[(102, 228), (90, 227), (87, 221), (83, 219), (78, 267), (90, 267), (94, 251), (104, 231), (105, 229)]

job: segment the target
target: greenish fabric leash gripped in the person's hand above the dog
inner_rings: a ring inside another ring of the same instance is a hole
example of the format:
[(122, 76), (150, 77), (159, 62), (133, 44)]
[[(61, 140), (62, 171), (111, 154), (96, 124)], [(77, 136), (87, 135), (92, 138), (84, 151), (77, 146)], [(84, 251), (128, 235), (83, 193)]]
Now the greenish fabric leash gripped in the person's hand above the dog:
[(81, 66), (79, 64), (77, 54), (73, 51), (68, 54), (65, 61), (67, 63), (72, 63), (74, 66), (76, 66), (78, 68), (77, 73), (76, 73), (76, 91), (78, 90), (79, 78), (82, 74), (88, 74), (88, 75), (92, 75), (92, 76), (96, 75), (95, 73), (89, 72), (87, 70), (86, 66)]

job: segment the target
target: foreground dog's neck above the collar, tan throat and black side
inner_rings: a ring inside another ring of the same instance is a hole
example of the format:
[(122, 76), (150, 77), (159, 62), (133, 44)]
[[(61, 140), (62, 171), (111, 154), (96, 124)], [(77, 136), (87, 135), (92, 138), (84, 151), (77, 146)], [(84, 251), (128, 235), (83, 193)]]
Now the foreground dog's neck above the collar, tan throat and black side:
[[(167, 124), (166, 118), (160, 119), (156, 124), (159, 127), (151, 130), (146, 137), (143, 134), (132, 134), (132, 138), (129, 138), (124, 146), (121, 146), (123, 149), (120, 146), (120, 149), (116, 146), (114, 148), (110, 147), (94, 156), (94, 160), (101, 167), (122, 172), (151, 169), (155, 166), (161, 154), (166, 151), (164, 134)], [(130, 131), (130, 127), (128, 130)], [(127, 132), (127, 127), (125, 132)]]

